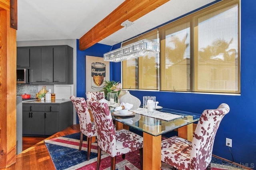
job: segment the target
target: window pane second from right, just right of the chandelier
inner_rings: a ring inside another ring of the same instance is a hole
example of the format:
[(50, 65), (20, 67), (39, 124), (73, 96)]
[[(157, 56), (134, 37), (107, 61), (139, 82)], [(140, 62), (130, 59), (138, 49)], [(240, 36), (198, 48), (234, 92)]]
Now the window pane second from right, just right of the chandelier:
[(179, 21), (159, 29), (161, 90), (190, 90), (190, 22)]

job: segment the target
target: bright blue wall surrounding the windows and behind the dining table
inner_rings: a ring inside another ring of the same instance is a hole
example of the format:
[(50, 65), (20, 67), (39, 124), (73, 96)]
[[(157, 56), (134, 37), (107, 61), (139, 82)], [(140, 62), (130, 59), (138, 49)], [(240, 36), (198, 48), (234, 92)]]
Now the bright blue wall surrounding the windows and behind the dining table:
[[(256, 0), (241, 0), (241, 95), (194, 94), (179, 92), (149, 92), (130, 90), (142, 96), (156, 96), (159, 106), (202, 113), (221, 103), (230, 106), (215, 137), (213, 154), (232, 160), (226, 138), (232, 139), (234, 162), (256, 168)], [(77, 96), (85, 96), (85, 55), (103, 56), (110, 46), (96, 44), (85, 51), (77, 51)], [(121, 80), (121, 64), (112, 63), (112, 79)]]

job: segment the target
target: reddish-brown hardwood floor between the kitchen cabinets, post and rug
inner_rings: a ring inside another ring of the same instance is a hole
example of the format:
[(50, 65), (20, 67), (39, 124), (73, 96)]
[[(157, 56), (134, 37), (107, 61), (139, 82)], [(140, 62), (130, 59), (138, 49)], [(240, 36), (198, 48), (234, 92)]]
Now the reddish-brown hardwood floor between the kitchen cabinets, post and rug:
[[(64, 131), (58, 132), (46, 139), (69, 135), (80, 132), (79, 124), (72, 125)], [(36, 139), (35, 139), (36, 140)], [(31, 141), (35, 141), (31, 139)], [(43, 139), (44, 140), (44, 139)], [(8, 168), (0, 168), (0, 170), (54, 170), (54, 164), (50, 158), (50, 154), (44, 145), (44, 141), (40, 141), (36, 145), (23, 150), (16, 155), (16, 163)]]

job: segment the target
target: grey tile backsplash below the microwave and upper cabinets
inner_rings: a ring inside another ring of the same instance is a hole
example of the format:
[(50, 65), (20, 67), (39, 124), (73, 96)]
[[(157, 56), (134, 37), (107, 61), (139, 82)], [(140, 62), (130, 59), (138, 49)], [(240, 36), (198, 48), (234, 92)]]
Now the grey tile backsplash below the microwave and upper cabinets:
[(36, 93), (38, 93), (38, 85), (17, 84), (17, 96), (25, 93), (30, 94), (31, 98), (36, 98)]

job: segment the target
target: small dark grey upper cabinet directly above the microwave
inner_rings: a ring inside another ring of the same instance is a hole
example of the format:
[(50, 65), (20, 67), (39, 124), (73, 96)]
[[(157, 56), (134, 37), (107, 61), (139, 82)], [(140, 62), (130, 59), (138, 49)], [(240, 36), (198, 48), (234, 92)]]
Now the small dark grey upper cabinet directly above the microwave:
[(17, 47), (17, 67), (30, 67), (30, 49), (28, 47)]

